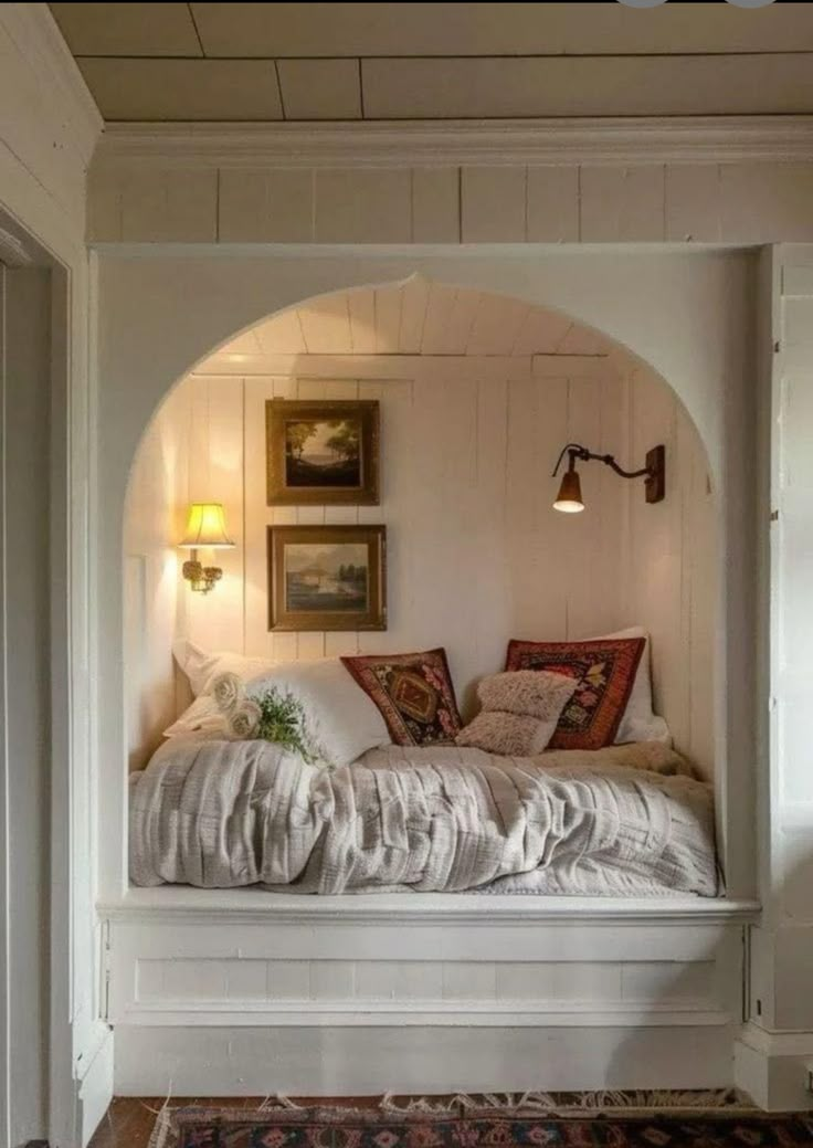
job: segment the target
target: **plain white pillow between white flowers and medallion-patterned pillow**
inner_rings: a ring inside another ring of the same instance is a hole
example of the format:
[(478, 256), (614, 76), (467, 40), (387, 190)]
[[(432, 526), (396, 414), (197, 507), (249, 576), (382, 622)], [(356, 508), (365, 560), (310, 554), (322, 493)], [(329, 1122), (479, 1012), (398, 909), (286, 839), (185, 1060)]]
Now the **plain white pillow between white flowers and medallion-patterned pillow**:
[(246, 693), (257, 697), (272, 687), (302, 703), (308, 732), (332, 766), (349, 766), (392, 742), (378, 706), (339, 658), (280, 662), (247, 681)]

